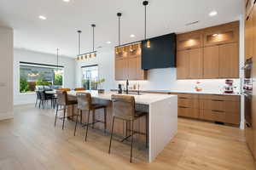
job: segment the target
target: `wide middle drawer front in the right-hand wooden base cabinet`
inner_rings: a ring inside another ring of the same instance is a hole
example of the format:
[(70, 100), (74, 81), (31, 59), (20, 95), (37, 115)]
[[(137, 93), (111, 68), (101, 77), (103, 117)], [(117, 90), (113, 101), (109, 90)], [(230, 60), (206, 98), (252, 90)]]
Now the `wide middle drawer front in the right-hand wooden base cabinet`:
[(220, 99), (206, 99), (201, 101), (201, 109), (211, 111), (240, 112), (240, 103), (236, 101), (224, 101)]

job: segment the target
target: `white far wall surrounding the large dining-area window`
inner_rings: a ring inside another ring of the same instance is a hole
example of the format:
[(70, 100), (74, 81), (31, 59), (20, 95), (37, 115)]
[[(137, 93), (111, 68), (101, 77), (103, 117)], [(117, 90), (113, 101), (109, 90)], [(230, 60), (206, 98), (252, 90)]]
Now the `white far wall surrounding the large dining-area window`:
[[(15, 48), (14, 50), (14, 104), (23, 105), (34, 103), (36, 95), (20, 94), (20, 61), (40, 63), (47, 65), (56, 65), (56, 56), (53, 54), (42, 54), (38, 52), (28, 51), (25, 49)], [(59, 65), (64, 66), (64, 88), (75, 87), (75, 61), (67, 57), (59, 58)]]

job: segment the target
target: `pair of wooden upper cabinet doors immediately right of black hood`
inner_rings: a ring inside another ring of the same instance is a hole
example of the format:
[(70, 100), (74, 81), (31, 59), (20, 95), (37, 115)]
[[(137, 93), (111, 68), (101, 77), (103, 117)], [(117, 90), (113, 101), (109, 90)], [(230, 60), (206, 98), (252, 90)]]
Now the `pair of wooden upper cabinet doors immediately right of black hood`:
[(177, 51), (177, 79), (199, 79), (203, 74), (203, 48)]

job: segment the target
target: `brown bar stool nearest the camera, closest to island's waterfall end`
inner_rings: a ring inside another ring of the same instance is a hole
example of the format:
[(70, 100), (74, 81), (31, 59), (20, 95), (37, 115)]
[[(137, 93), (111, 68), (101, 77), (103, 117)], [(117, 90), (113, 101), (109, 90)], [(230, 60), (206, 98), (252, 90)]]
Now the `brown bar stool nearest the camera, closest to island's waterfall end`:
[[(110, 154), (110, 150), (111, 150), (114, 120), (115, 118), (124, 120), (126, 122), (126, 137), (122, 139), (121, 142), (124, 142), (126, 139), (129, 139), (131, 137), (131, 155), (130, 155), (130, 162), (131, 162), (133, 135), (135, 133), (138, 133), (134, 131), (134, 121), (142, 116), (146, 116), (146, 147), (148, 146), (148, 113), (139, 112), (135, 110), (135, 99), (133, 96), (112, 95), (111, 99), (113, 102), (113, 118), (112, 118), (111, 137), (110, 137), (108, 153)], [(129, 136), (127, 136), (127, 122), (131, 122), (131, 135)], [(139, 134), (143, 134), (143, 133), (139, 133)]]

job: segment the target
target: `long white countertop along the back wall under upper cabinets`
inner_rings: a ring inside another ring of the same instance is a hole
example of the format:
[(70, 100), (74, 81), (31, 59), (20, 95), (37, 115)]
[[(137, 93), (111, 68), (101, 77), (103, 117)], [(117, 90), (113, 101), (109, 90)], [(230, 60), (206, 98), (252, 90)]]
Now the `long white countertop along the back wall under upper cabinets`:
[[(111, 91), (117, 91), (117, 89), (113, 89)], [(130, 92), (137, 92), (137, 90), (129, 90)], [(238, 93), (234, 94), (224, 94), (221, 92), (206, 92), (206, 91), (201, 91), (201, 92), (196, 92), (196, 91), (183, 91), (183, 90), (140, 90), (141, 93), (160, 93), (160, 94), (172, 94), (172, 93), (177, 93), (177, 94), (213, 94), (213, 95), (241, 95)]]

